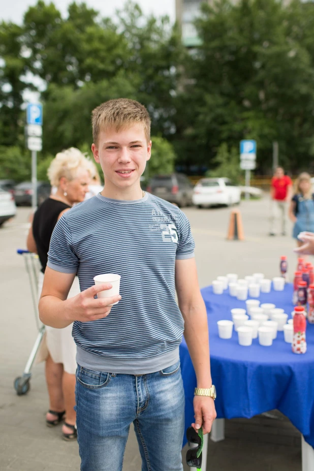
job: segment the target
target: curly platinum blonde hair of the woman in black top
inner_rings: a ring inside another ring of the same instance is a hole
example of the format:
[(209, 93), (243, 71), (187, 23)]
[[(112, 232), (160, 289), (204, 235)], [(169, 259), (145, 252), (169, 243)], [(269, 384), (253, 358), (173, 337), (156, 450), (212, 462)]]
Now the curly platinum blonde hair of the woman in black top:
[(51, 186), (59, 186), (60, 178), (66, 177), (69, 181), (74, 180), (80, 170), (85, 170), (92, 176), (91, 162), (76, 147), (58, 152), (51, 162), (47, 175)]

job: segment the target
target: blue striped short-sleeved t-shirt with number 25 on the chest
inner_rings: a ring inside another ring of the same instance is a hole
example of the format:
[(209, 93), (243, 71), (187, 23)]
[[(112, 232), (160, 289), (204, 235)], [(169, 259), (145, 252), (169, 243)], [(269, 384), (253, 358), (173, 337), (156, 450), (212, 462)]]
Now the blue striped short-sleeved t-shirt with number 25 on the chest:
[(47, 266), (77, 273), (81, 291), (102, 273), (121, 275), (109, 315), (74, 322), (81, 366), (144, 374), (178, 359), (184, 322), (175, 298), (175, 260), (194, 257), (189, 221), (146, 193), (136, 201), (97, 195), (73, 207), (53, 231)]

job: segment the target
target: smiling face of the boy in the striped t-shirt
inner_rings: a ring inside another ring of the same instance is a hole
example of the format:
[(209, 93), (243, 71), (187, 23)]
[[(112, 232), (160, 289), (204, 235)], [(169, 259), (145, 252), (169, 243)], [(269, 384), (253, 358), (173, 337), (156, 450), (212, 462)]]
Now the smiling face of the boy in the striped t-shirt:
[(140, 177), (151, 150), (151, 141), (147, 142), (143, 124), (136, 123), (120, 131), (102, 130), (98, 146), (92, 144), (91, 150), (102, 167), (105, 185), (122, 191), (132, 186), (140, 187)]

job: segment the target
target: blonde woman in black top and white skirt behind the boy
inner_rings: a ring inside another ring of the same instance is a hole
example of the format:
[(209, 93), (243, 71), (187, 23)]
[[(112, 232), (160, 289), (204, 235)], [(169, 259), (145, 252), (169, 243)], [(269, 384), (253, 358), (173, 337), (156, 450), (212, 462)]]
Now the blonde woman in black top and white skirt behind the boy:
[[(56, 154), (48, 169), (54, 195), (47, 198), (34, 214), (27, 236), (27, 249), (37, 253), (42, 266), (39, 276), (39, 295), (42, 291), (50, 238), (58, 219), (75, 203), (84, 201), (91, 177), (89, 161), (80, 150), (71, 147)], [(80, 292), (75, 277), (69, 297)], [(76, 344), (72, 337), (72, 324), (64, 329), (46, 327), (46, 333), (37, 361), (46, 361), (46, 382), (49, 410), (46, 424), (53, 427), (62, 420), (63, 438), (77, 438), (75, 406)]]

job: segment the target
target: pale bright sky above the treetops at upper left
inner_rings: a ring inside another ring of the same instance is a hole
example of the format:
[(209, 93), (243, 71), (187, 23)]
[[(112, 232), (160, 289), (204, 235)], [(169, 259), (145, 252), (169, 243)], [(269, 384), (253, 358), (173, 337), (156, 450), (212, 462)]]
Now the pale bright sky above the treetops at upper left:
[[(73, 0), (52, 0), (55, 6), (60, 10), (62, 15), (67, 12), (67, 6)], [(83, 0), (76, 0), (82, 3)], [(50, 3), (50, 0), (46, 0)], [(101, 13), (102, 16), (112, 16), (117, 9), (121, 9), (125, 4), (125, 0), (85, 0), (88, 7), (91, 7)], [(175, 0), (137, 0), (144, 13), (153, 13), (155, 16), (169, 15), (174, 21), (175, 19)], [(36, 5), (37, 0), (13, 0), (7, 2), (0, 0), (0, 20), (13, 21), (21, 23), (23, 14), (28, 7)]]

